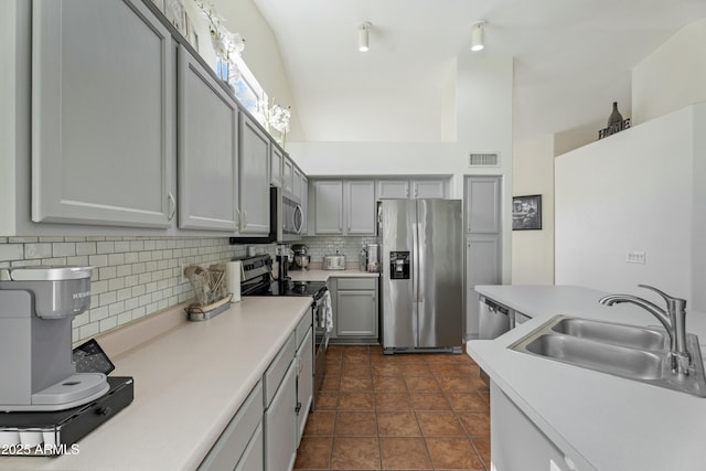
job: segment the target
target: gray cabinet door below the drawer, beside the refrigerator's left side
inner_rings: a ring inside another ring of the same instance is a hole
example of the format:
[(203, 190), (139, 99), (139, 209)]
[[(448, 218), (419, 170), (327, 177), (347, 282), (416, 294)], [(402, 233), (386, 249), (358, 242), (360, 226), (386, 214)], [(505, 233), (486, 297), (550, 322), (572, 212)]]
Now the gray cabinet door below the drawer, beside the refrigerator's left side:
[(336, 336), (377, 338), (377, 298), (375, 291), (336, 292)]

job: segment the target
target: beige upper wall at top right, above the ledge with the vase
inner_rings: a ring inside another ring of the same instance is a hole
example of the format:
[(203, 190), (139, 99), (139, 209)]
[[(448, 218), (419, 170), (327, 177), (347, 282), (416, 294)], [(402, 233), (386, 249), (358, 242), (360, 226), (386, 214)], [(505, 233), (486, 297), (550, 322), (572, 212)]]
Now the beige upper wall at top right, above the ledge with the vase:
[(706, 100), (706, 19), (693, 23), (632, 69), (632, 122)]

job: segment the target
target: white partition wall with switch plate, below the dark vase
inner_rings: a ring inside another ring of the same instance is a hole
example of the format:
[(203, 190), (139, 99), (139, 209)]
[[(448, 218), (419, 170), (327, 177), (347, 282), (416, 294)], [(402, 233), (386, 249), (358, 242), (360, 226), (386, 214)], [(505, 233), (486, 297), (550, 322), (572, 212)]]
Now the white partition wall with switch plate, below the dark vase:
[[(694, 188), (706, 181), (694, 161), (704, 106), (699, 129), (687, 107), (556, 159), (557, 285), (634, 293), (645, 283), (687, 300), (703, 291), (704, 254), (695, 260), (693, 249), (703, 206), (693, 203)], [(703, 190), (697, 194), (703, 201)], [(646, 263), (628, 264), (628, 250), (644, 251)], [(691, 302), (699, 304), (706, 309), (703, 299)]]

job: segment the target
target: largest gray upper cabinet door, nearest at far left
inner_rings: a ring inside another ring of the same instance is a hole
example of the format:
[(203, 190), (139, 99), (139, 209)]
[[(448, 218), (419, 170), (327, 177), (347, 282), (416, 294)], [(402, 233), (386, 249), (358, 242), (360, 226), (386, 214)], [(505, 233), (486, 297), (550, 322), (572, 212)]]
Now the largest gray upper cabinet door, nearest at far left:
[(32, 14), (32, 221), (171, 227), (169, 30), (139, 0)]

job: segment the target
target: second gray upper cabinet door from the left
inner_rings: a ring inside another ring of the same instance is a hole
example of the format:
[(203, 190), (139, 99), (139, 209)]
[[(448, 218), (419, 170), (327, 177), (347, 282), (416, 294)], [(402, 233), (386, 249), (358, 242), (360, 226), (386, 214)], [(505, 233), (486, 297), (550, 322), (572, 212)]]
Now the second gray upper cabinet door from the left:
[(179, 47), (179, 227), (234, 232), (238, 108)]

